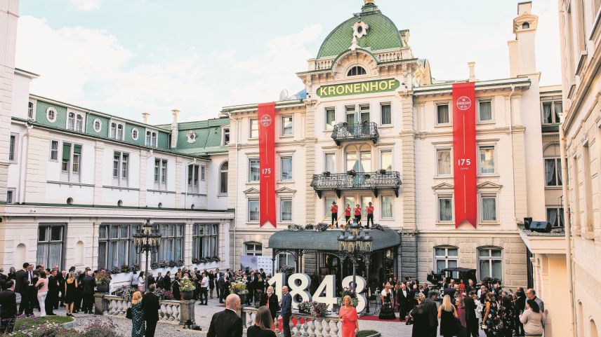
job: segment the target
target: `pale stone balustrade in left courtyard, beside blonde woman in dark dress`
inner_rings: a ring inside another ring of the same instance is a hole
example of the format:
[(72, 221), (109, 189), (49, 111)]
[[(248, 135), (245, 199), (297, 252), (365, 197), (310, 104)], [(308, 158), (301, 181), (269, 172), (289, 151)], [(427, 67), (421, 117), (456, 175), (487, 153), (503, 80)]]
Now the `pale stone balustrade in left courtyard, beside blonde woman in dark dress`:
[[(194, 323), (194, 301), (160, 301), (159, 322)], [(95, 294), (95, 314), (125, 317), (131, 301), (110, 294)]]

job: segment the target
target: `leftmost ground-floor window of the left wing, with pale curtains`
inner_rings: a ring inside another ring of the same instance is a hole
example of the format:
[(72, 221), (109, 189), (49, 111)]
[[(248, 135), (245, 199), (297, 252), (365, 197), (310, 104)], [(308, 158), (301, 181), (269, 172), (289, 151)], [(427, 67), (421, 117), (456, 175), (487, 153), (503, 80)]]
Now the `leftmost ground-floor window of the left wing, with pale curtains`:
[(37, 264), (48, 268), (62, 268), (62, 250), (65, 226), (62, 224), (40, 224), (38, 227)]

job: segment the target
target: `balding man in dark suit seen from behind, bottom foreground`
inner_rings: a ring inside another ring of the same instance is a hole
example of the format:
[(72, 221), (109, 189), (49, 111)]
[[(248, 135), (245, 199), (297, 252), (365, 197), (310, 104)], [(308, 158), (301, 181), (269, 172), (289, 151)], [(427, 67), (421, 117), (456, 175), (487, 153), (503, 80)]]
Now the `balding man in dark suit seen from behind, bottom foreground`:
[(206, 337), (242, 337), (242, 318), (236, 313), (241, 307), (238, 295), (227, 295), (225, 310), (213, 315)]

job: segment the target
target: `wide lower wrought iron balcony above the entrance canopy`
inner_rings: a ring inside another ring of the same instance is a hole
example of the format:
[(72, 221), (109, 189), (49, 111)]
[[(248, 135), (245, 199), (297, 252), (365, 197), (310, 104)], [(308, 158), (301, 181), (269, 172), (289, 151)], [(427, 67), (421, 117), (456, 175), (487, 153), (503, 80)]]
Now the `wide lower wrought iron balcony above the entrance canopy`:
[(390, 189), (399, 196), (401, 174), (397, 171), (379, 170), (376, 172), (355, 172), (313, 174), (311, 187), (322, 198), (323, 191), (336, 191), (338, 198), (343, 190), (371, 190), (376, 198), (378, 190)]

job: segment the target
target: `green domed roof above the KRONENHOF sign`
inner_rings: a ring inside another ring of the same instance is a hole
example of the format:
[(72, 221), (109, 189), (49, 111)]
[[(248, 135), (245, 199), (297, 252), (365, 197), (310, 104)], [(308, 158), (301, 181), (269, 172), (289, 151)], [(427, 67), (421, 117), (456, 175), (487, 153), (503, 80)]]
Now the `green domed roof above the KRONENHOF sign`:
[(352, 41), (352, 26), (359, 21), (369, 25), (367, 35), (357, 39), (360, 48), (374, 51), (403, 46), (395, 23), (378, 11), (375, 5), (367, 4), (363, 6), (361, 13), (355, 14), (333, 29), (319, 48), (317, 58), (338, 56), (348, 50)]

